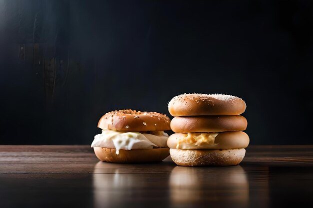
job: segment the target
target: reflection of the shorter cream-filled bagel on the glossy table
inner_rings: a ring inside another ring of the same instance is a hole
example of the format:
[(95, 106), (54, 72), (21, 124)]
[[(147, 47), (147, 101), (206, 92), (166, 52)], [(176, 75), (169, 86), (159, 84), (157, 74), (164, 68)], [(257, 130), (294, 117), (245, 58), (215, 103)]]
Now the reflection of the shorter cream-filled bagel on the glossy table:
[[(168, 201), (172, 164), (114, 164), (98, 162), (94, 166), (93, 199), (95, 208), (148, 207)], [(167, 192), (166, 192), (167, 190)]]

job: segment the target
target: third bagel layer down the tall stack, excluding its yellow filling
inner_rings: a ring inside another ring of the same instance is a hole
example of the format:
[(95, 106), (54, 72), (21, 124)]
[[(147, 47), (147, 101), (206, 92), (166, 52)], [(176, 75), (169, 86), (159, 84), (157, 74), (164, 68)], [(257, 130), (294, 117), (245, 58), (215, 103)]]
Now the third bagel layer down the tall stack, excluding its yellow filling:
[[(205, 134), (205, 133), (203, 133)], [(167, 146), (171, 149), (176, 149), (177, 142), (184, 139), (187, 136), (186, 133), (175, 133), (168, 137)], [(220, 132), (215, 137), (214, 143), (206, 145), (205, 150), (220, 150), (220, 149), (240, 149), (246, 148), (249, 144), (249, 136), (241, 131), (234, 132)]]

